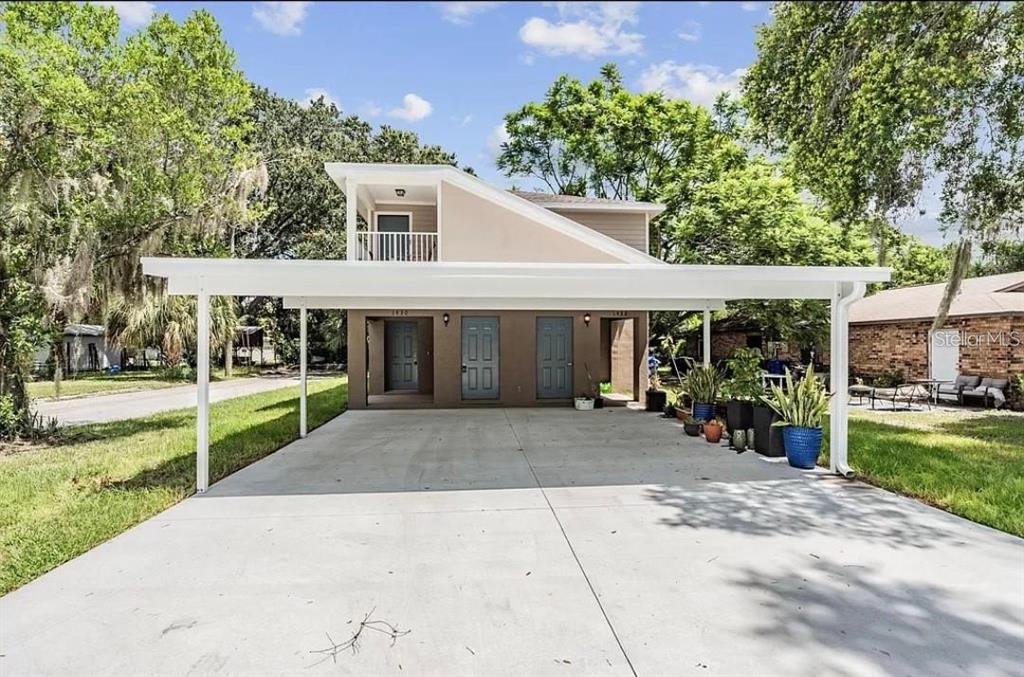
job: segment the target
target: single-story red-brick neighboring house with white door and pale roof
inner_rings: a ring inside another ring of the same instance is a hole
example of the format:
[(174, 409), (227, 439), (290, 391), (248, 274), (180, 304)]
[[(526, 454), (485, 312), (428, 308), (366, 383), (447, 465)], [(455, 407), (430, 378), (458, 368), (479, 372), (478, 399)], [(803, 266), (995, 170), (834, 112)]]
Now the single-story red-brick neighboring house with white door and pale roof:
[(945, 284), (903, 287), (850, 308), (850, 366), (906, 379), (1024, 374), (1024, 271), (964, 281), (943, 329), (932, 333)]

